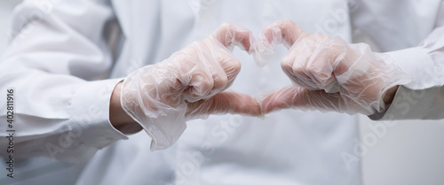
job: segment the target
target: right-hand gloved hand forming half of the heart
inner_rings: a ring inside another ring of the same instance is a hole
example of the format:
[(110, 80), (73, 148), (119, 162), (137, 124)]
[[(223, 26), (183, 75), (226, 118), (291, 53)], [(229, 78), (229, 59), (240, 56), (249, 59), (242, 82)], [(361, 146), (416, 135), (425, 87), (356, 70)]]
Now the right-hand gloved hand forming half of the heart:
[(264, 112), (294, 107), (370, 115), (385, 111), (387, 90), (394, 95), (398, 85), (409, 81), (391, 58), (372, 52), (369, 45), (309, 34), (288, 19), (263, 29), (258, 64), (265, 64), (279, 43), (289, 48), (281, 68), (294, 86), (266, 96)]

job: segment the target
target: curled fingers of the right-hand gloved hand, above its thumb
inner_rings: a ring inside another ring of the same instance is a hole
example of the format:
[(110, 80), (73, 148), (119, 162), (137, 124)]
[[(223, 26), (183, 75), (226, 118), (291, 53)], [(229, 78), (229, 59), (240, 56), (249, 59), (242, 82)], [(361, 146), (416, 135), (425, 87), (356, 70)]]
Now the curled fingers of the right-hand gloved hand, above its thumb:
[(343, 45), (331, 40), (321, 34), (305, 36), (282, 59), (282, 70), (293, 82), (306, 89), (338, 92), (334, 64), (344, 58), (346, 51)]

